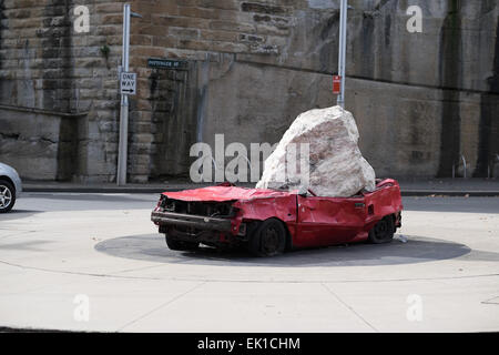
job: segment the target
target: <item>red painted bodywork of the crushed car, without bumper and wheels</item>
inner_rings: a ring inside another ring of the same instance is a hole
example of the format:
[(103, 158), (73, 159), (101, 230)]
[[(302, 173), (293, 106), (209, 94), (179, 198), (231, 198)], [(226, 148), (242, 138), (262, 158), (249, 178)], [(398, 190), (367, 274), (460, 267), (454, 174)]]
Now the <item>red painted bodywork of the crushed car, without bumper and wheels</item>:
[[(238, 209), (231, 220), (235, 236), (243, 222), (283, 221), (296, 247), (332, 245), (363, 241), (369, 230), (387, 215), (400, 226), (403, 210), (397, 181), (378, 182), (373, 192), (352, 197), (302, 196), (298, 191), (276, 191), (218, 185), (180, 192), (164, 192), (169, 199), (190, 202), (230, 202)], [(223, 237), (226, 239), (225, 236)]]

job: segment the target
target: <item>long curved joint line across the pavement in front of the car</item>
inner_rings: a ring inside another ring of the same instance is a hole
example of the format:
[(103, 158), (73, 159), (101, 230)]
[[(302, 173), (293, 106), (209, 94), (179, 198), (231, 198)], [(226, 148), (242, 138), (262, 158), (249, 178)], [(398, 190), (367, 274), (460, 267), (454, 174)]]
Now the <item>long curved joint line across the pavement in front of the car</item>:
[[(42, 268), (35, 266), (24, 266), (14, 263), (9, 263), (0, 260), (1, 264), (6, 264), (12, 267), (20, 267), (27, 270), (34, 270), (40, 272), (55, 273), (55, 274), (69, 274), (69, 275), (78, 275), (78, 276), (94, 276), (94, 277), (115, 277), (115, 278), (128, 278), (128, 280), (151, 280), (151, 281), (191, 281), (191, 282), (236, 282), (236, 283), (282, 283), (282, 284), (338, 284), (338, 283), (363, 283), (363, 282), (406, 282), (406, 281), (439, 281), (439, 280), (461, 280), (461, 278), (476, 278), (476, 277), (497, 277), (499, 274), (481, 274), (481, 275), (464, 275), (464, 276), (444, 276), (444, 277), (418, 277), (418, 278), (387, 278), (387, 280), (316, 280), (316, 281), (299, 281), (299, 280), (222, 280), (222, 278), (187, 278), (187, 277), (144, 277), (144, 276), (120, 276), (112, 274), (93, 274), (93, 273), (81, 273), (81, 272), (71, 272), (71, 271), (60, 271), (60, 270), (51, 270), (51, 268)], [(166, 266), (166, 265), (159, 265)]]

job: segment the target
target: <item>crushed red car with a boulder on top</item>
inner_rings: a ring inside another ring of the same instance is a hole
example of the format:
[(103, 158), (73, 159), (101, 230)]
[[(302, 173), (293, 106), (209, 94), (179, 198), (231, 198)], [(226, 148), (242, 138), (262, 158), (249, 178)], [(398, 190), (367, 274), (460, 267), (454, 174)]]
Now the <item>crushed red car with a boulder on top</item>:
[(393, 179), (377, 180), (375, 191), (352, 197), (224, 183), (164, 192), (151, 220), (171, 250), (195, 250), (202, 243), (273, 256), (291, 248), (391, 242), (401, 210), (400, 187)]

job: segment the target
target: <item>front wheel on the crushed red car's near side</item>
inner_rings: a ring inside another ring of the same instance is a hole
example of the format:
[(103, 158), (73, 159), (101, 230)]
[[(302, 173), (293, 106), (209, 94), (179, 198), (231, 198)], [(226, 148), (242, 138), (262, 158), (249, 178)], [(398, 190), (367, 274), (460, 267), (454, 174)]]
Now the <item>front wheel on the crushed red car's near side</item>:
[(282, 254), (286, 246), (286, 231), (276, 219), (263, 222), (249, 239), (248, 250), (257, 256), (275, 256)]

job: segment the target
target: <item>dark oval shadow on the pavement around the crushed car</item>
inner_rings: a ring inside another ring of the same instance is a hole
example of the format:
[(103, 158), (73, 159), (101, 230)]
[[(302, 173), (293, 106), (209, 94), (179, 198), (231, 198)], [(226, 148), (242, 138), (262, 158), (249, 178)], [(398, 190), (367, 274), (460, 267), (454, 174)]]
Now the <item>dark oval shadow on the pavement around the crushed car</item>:
[(299, 250), (276, 257), (253, 257), (245, 251), (218, 251), (200, 247), (195, 252), (177, 252), (166, 247), (157, 234), (118, 237), (95, 245), (99, 252), (125, 258), (159, 263), (231, 266), (366, 266), (424, 263), (467, 256), (466, 260), (499, 261), (498, 253), (471, 251), (464, 244), (442, 240), (408, 236), (390, 244), (357, 243), (320, 248)]

